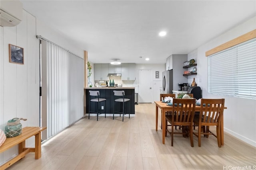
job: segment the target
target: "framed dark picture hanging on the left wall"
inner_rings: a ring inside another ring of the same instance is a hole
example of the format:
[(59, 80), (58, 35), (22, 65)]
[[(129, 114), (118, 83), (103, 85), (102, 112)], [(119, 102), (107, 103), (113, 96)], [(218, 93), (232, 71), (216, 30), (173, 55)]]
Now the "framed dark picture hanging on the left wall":
[(24, 64), (23, 48), (9, 44), (9, 61), (10, 63)]

